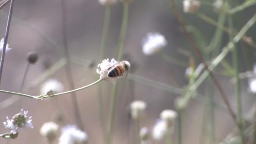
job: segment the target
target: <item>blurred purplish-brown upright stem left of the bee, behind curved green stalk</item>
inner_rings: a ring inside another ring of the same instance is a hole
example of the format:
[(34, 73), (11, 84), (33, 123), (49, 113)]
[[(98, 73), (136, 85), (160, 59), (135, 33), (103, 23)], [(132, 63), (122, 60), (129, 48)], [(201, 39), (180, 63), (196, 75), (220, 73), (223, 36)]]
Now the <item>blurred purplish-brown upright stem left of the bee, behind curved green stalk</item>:
[[(72, 77), (72, 70), (70, 66), (70, 59), (69, 59), (69, 51), (68, 51), (68, 39), (67, 39), (67, 0), (61, 0), (61, 13), (62, 13), (62, 42), (64, 43), (64, 52), (65, 52), (65, 57), (67, 57), (67, 65), (65, 66), (65, 70), (67, 73), (67, 79), (68, 79), (68, 84), (70, 89), (75, 88), (75, 84), (73, 81)], [(82, 117), (80, 115), (79, 107), (78, 107), (78, 102), (77, 102), (77, 96), (75, 93), (71, 93), (72, 95), (72, 104), (75, 110), (75, 117), (77, 120), (77, 124), (81, 128), (82, 131), (84, 131), (84, 126), (82, 122)]]

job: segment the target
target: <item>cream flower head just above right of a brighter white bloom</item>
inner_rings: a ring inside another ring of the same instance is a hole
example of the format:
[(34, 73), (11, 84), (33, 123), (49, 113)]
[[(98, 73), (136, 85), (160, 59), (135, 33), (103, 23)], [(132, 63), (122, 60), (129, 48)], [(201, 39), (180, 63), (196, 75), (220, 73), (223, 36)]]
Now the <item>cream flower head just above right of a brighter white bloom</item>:
[(169, 128), (173, 126), (176, 117), (177, 113), (171, 109), (165, 109), (160, 114), (160, 118), (167, 123)]

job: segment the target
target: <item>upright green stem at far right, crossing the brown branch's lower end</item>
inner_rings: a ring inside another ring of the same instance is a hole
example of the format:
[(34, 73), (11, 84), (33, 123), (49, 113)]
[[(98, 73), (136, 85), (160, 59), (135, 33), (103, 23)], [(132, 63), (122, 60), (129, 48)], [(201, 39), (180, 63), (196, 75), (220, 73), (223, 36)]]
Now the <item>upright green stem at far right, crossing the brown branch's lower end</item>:
[[(234, 29), (232, 16), (228, 16), (229, 27), (230, 29)], [(229, 35), (230, 41), (233, 40), (233, 35)], [(235, 77), (235, 89), (236, 89), (236, 99), (237, 99), (237, 123), (239, 126), (239, 135), (240, 135), (240, 143), (243, 144), (244, 136), (243, 136), (243, 114), (242, 114), (242, 99), (241, 99), (241, 86), (240, 86), (240, 79), (239, 79), (239, 66), (238, 66), (238, 51), (234, 44), (232, 50), (232, 60), (233, 60), (233, 67), (234, 67), (234, 77)]]

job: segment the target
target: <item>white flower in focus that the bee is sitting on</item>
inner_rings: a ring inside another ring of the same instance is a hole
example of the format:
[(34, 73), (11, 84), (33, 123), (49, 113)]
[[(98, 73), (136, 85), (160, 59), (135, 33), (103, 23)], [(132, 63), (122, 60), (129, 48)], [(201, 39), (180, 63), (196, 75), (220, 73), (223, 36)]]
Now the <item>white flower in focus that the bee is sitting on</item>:
[(96, 72), (100, 75), (103, 80), (110, 80), (115, 82), (119, 77), (108, 77), (109, 68), (117, 64), (117, 61), (113, 58), (111, 61), (109, 59), (104, 59), (100, 64)]

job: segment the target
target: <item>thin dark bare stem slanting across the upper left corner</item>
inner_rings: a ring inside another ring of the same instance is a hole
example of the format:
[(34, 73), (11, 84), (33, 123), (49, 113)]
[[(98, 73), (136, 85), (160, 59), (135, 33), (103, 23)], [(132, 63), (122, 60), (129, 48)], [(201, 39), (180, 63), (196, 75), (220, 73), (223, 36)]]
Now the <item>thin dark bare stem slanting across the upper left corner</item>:
[(0, 83), (1, 83), (2, 73), (3, 73), (5, 50), (6, 50), (6, 45), (7, 45), (7, 40), (8, 40), (8, 35), (9, 35), (9, 30), (10, 30), (10, 25), (11, 25), (11, 16), (13, 13), (13, 3), (14, 3), (14, 0), (11, 0), (9, 16), (8, 16), (7, 26), (6, 26), (6, 31), (5, 31), (5, 38), (4, 38), (4, 42), (3, 42), (3, 52), (2, 52), (1, 61), (0, 61)]

